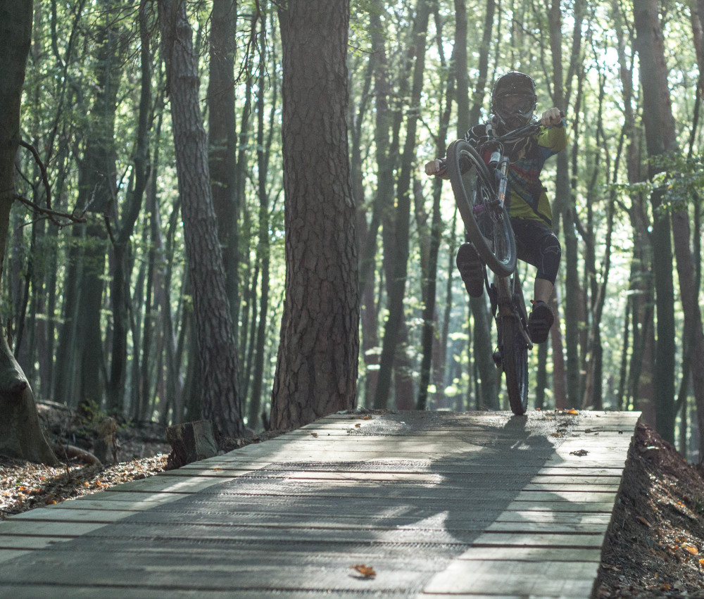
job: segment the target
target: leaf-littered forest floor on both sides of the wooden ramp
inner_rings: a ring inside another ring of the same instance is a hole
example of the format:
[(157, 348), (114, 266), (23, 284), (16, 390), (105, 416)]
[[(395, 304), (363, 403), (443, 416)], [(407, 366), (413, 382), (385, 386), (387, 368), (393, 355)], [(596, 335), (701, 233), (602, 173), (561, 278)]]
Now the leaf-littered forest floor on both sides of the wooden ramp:
[[(89, 428), (76, 427), (75, 415), (65, 408), (39, 405), (39, 411), (52, 443), (92, 447)], [(76, 457), (60, 467), (0, 455), (0, 519), (168, 468), (170, 446), (162, 427), (120, 427), (115, 440), (118, 462), (112, 465), (96, 463), (92, 454), (80, 451), (69, 452)], [(230, 439), (226, 448), (260, 440)], [(687, 464), (643, 424), (631, 443), (596, 597), (704, 599), (704, 469)]]

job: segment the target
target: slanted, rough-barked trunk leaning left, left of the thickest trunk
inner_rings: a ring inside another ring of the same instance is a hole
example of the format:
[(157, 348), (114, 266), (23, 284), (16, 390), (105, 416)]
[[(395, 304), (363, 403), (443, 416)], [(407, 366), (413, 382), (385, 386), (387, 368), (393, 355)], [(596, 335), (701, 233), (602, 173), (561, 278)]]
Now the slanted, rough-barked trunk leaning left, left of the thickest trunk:
[(159, 22), (171, 100), (186, 254), (193, 285), (203, 416), (213, 422), (217, 434), (239, 436), (242, 413), (237, 346), (210, 189), (206, 132), (198, 96), (199, 77), (184, 1), (160, 0)]

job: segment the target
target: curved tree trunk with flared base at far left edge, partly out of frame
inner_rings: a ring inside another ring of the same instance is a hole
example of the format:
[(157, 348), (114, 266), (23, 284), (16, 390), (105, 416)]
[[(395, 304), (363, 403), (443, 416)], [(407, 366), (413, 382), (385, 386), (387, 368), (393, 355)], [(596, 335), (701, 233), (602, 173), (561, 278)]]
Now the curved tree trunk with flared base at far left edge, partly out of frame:
[[(32, 39), (32, 2), (0, 0), (0, 279), (15, 197), (15, 154), (20, 142), (20, 102)], [(0, 318), (0, 322), (2, 319)], [(0, 452), (34, 462), (58, 460), (39, 426), (34, 395), (0, 332)]]

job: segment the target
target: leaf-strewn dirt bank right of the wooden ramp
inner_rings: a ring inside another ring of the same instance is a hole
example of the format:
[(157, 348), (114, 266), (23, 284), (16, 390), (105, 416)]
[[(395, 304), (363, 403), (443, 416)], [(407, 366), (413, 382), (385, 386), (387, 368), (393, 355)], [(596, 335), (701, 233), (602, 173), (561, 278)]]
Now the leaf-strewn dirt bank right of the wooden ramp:
[(704, 477), (639, 424), (601, 556), (598, 598), (704, 598)]

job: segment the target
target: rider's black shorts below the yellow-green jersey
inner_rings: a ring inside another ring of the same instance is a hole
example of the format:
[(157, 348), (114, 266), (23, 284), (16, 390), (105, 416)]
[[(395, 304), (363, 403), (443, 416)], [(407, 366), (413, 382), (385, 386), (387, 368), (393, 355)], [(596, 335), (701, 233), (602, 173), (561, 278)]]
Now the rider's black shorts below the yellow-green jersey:
[(536, 279), (547, 279), (555, 284), (562, 248), (553, 229), (545, 222), (527, 218), (511, 218), (511, 225), (518, 258), (538, 269)]

